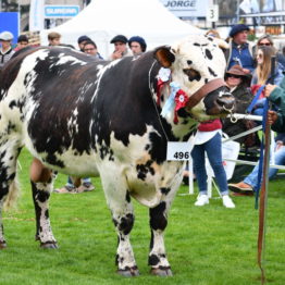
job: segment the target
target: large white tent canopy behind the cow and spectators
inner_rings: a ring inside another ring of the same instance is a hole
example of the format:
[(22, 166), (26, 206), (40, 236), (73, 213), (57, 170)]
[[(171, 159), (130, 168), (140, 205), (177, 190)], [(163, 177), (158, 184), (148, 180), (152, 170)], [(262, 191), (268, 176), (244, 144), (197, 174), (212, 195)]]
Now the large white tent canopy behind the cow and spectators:
[(77, 48), (77, 38), (89, 36), (103, 58), (113, 51), (110, 40), (121, 34), (126, 37), (141, 36), (148, 50), (202, 30), (190, 26), (172, 14), (159, 0), (92, 0), (77, 16), (64, 24), (40, 33), (41, 45), (47, 35), (58, 32), (61, 42)]

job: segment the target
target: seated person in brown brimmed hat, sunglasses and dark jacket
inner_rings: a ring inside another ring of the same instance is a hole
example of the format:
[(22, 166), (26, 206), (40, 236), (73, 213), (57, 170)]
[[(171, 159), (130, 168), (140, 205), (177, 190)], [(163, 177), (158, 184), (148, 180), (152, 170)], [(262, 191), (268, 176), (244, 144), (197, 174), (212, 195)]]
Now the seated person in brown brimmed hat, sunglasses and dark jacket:
[[(236, 113), (245, 114), (248, 106), (252, 101), (253, 96), (248, 88), (250, 86), (250, 79), (251, 76), (245, 73), (238, 64), (233, 65), (231, 70), (225, 73), (225, 83), (236, 99)], [(252, 128), (252, 125), (255, 125), (255, 122), (249, 120), (238, 120), (236, 123), (232, 123), (231, 119), (224, 119), (223, 132), (232, 137)], [(245, 144), (246, 147), (259, 145), (256, 134), (237, 138), (236, 141)]]

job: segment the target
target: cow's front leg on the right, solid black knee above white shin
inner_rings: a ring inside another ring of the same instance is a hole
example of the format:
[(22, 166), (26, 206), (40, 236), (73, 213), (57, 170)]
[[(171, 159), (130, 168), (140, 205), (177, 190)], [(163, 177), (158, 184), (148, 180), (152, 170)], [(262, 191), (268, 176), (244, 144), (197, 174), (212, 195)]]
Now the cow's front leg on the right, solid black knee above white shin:
[(150, 209), (149, 214), (151, 240), (148, 264), (151, 267), (152, 274), (159, 276), (172, 276), (163, 239), (163, 232), (168, 225), (166, 202), (162, 201), (156, 208)]

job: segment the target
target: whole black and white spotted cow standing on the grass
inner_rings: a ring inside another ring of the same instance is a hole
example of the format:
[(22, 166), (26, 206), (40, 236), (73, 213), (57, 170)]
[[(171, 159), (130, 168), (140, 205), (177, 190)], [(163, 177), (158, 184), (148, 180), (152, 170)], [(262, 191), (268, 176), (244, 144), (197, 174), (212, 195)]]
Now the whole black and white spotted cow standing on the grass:
[[(166, 145), (188, 140), (197, 121), (232, 109), (224, 69), (218, 45), (201, 36), (113, 62), (60, 47), (20, 52), (1, 75), (0, 207), (14, 190), (23, 146), (54, 171), (94, 176), (98, 170), (119, 236), (119, 273), (138, 274), (129, 243), (133, 197), (150, 208), (151, 272), (171, 275), (163, 232), (183, 162), (166, 161)], [(162, 116), (171, 83), (177, 92)], [(33, 183), (36, 237), (48, 248), (57, 247), (48, 210), (52, 182), (44, 168)], [(5, 246), (1, 223), (0, 248)]]

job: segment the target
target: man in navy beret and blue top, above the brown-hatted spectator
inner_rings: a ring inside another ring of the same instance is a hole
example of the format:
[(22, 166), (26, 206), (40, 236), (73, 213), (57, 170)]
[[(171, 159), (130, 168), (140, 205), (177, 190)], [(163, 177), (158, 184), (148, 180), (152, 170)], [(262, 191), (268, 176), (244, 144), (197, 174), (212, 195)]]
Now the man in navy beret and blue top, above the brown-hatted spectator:
[(239, 64), (244, 72), (252, 73), (256, 66), (252, 46), (247, 41), (249, 27), (238, 24), (232, 27), (230, 32), (230, 49), (225, 51), (226, 70), (233, 65)]

